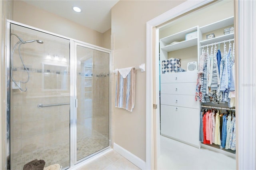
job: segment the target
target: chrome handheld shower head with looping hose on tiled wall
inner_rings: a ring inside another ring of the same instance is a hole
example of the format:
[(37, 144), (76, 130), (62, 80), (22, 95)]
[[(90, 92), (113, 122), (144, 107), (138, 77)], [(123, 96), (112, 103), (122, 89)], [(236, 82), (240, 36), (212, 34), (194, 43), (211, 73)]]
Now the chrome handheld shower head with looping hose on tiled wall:
[[(16, 36), (20, 41), (18, 41), (18, 42), (14, 45), (13, 50), (12, 50), (12, 53), (11, 53), (11, 71), (10, 71), (10, 76), (11, 76), (11, 79), (12, 79), (13, 83), (14, 83), (21, 91), (25, 92), (25, 91), (27, 91), (27, 87), (26, 87), (25, 90), (22, 89), (21, 86), (18, 85), (18, 83), (17, 83), (17, 82), (14, 80), (14, 78), (12, 77), (12, 71), (13, 71), (13, 53), (14, 53), (14, 50), (15, 50), (16, 46), (19, 44), (18, 51), (19, 51), (19, 55), (20, 55), (20, 61), (22, 62), (22, 65), (24, 66), (24, 69), (25, 69), (26, 72), (28, 73), (28, 69), (27, 69), (27, 67), (26, 67), (25, 64), (24, 64), (23, 59), (22, 59), (22, 55), (21, 55), (21, 53), (20, 53), (20, 46), (21, 46), (22, 44), (24, 44), (24, 43), (32, 43), (32, 42), (44, 43), (44, 42), (43, 42), (42, 40), (28, 40), (28, 41), (24, 41), (24, 40), (22, 40), (22, 38), (20, 38), (19, 36), (17, 36), (17, 35), (14, 34), (14, 33), (11, 33), (11, 35)], [(20, 81), (20, 83), (26, 84), (26, 83), (28, 83), (29, 79), (30, 79), (30, 75), (29, 75), (29, 73), (28, 73), (28, 79), (27, 79), (26, 81)]]

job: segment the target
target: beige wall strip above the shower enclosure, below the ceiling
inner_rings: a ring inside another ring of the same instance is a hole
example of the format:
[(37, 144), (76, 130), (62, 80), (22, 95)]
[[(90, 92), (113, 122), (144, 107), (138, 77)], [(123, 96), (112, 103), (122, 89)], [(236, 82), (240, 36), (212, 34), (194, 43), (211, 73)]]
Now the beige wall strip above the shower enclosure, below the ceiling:
[[(13, 20), (62, 36), (74, 38), (82, 42), (98, 45), (100, 47), (103, 45), (102, 33), (41, 10), (20, 0), (14, 1)], [(108, 41), (110, 42), (110, 36)]]

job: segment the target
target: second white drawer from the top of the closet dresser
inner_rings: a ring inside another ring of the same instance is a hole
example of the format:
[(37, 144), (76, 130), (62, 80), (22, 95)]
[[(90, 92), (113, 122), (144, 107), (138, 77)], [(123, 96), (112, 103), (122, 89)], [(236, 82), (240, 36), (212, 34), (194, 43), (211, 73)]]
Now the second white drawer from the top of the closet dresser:
[[(171, 74), (171, 73), (170, 73)], [(161, 94), (195, 95), (196, 82), (194, 83), (161, 83)]]

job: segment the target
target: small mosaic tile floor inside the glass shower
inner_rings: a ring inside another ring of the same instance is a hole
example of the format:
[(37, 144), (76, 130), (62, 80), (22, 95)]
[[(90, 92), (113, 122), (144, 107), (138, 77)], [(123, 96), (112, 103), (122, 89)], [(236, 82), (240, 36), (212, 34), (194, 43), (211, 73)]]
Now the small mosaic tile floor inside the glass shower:
[[(106, 136), (100, 133), (93, 133), (90, 136), (84, 136), (77, 142), (78, 151), (77, 158), (78, 160), (88, 156), (92, 153), (106, 148), (109, 146), (109, 140)], [(45, 161), (45, 167), (52, 164), (60, 164), (62, 169), (67, 169), (69, 167), (69, 152), (70, 146), (69, 142), (60, 144), (58, 146), (52, 146), (49, 148), (42, 148), (34, 152), (26, 154), (17, 154), (14, 156), (11, 164), (11, 170), (22, 170), (24, 164), (30, 162), (31, 160), (38, 159)]]

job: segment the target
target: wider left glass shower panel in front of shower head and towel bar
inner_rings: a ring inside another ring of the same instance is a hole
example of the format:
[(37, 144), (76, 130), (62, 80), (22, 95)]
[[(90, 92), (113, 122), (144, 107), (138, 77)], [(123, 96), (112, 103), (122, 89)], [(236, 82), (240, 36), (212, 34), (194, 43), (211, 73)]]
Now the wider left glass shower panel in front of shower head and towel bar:
[(70, 40), (10, 28), (10, 168), (35, 159), (69, 168)]

